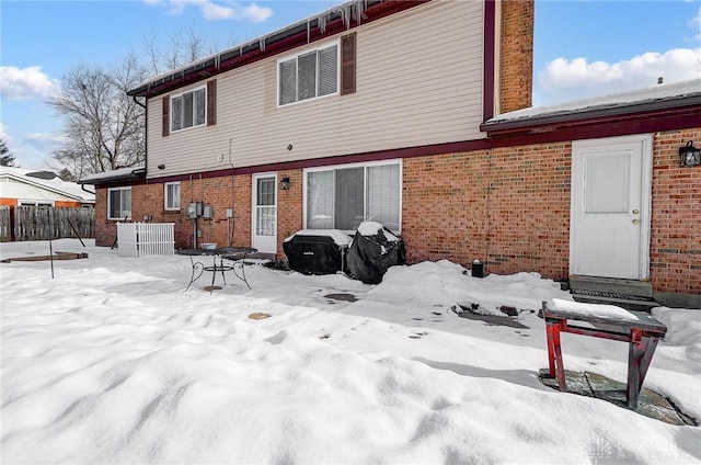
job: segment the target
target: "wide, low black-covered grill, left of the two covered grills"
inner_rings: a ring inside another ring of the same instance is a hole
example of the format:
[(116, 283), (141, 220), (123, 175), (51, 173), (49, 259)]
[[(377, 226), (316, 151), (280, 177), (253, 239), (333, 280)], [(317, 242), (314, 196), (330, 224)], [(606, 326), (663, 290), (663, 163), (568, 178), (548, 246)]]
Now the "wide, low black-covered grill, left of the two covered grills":
[(291, 270), (304, 274), (333, 274), (341, 271), (343, 247), (330, 236), (295, 235), (283, 242)]

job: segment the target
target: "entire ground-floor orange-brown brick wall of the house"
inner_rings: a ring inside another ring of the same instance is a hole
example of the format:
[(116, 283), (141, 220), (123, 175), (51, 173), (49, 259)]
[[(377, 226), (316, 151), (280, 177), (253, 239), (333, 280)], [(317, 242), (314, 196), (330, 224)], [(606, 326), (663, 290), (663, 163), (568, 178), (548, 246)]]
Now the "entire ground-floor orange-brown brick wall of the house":
[[(678, 150), (701, 140), (701, 128), (654, 135), (651, 279), (657, 292), (701, 294), (701, 168), (679, 168)], [(485, 263), (490, 273), (533, 271), (565, 280), (568, 273), (572, 144), (551, 143), (416, 157), (403, 160), (402, 235), (407, 261)], [(290, 189), (278, 193), (278, 256), (281, 242), (302, 228), (302, 170), (280, 171)], [(226, 208), (233, 205), (231, 245), (251, 245), (252, 177), (181, 182), (183, 209), (163, 211), (163, 184), (133, 186), (133, 216), (176, 224), (176, 247), (191, 247), (187, 203), (215, 208), (199, 220), (202, 241), (228, 245)], [(114, 224), (105, 219), (106, 189), (97, 190), (96, 239), (111, 246)], [(233, 196), (233, 197), (232, 197)], [(211, 229), (210, 229), (211, 227)]]

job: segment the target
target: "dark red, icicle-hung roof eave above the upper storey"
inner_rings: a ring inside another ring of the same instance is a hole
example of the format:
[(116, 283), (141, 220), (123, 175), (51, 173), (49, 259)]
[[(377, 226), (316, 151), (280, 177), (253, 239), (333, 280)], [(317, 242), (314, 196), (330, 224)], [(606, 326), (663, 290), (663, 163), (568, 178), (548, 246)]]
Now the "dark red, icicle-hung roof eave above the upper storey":
[(350, 0), (271, 34), (149, 78), (127, 94), (146, 98), (160, 95), (428, 1), (432, 0)]

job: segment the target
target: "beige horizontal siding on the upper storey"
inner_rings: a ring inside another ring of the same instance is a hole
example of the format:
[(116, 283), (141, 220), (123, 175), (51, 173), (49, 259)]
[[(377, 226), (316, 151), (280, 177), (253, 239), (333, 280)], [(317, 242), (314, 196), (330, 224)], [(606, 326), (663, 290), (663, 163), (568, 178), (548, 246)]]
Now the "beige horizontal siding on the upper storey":
[(148, 177), (483, 139), (483, 3), (433, 1), (354, 29), (352, 94), (280, 106), (272, 57), (217, 76), (215, 126), (161, 137), (162, 97), (149, 99)]

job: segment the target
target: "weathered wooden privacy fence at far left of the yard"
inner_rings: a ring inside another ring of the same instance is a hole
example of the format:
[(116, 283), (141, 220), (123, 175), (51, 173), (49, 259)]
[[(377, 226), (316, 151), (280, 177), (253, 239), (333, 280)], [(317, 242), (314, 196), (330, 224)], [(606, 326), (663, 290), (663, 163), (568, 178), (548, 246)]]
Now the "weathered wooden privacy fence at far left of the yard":
[(0, 206), (0, 240), (47, 240), (94, 237), (94, 208), (46, 205)]

